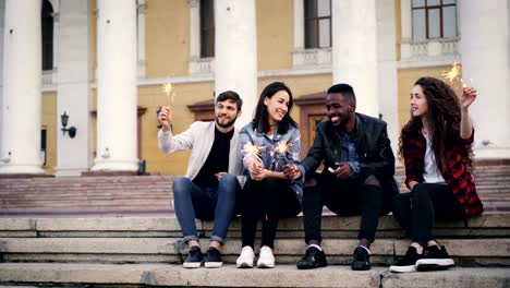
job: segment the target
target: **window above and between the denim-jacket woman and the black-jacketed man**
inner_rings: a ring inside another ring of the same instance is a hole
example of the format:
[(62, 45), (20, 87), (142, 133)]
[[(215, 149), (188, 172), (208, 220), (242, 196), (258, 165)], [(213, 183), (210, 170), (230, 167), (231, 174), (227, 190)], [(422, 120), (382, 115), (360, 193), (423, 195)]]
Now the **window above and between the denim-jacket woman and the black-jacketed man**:
[(331, 0), (305, 0), (305, 48), (331, 47)]

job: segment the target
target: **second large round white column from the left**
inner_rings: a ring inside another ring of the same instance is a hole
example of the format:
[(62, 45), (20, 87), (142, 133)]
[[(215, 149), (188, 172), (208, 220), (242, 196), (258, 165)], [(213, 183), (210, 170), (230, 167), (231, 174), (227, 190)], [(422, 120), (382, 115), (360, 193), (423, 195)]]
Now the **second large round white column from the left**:
[(93, 170), (135, 171), (136, 1), (99, 0), (97, 157)]

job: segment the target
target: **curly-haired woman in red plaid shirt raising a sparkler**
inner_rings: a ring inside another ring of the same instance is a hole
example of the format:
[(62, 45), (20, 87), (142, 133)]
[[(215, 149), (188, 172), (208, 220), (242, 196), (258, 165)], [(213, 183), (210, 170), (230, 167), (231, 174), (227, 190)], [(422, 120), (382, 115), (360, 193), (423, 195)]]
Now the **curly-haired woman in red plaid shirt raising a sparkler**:
[(393, 197), (393, 215), (412, 243), (391, 272), (445, 269), (454, 265), (432, 235), (435, 220), (459, 220), (483, 212), (471, 176), (474, 129), (469, 107), (476, 89), (453, 89), (421, 77), (411, 91), (411, 120), (400, 135), (405, 184), (411, 192)]

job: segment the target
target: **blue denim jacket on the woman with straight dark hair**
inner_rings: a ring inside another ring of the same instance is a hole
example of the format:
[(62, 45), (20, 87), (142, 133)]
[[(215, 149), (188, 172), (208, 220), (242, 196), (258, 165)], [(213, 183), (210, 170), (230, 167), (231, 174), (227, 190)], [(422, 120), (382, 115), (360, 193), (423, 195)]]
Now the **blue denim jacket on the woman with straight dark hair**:
[[(278, 127), (275, 129), (272, 139), (266, 133), (253, 129), (253, 122), (250, 122), (241, 129), (239, 137), (243, 156), (244, 173), (250, 176), (248, 161), (251, 157), (259, 157), (264, 168), (272, 171), (282, 171), (284, 164), (296, 164), (304, 175), (304, 168), (300, 165), (301, 155), (301, 133), (296, 128), (291, 127), (286, 134), (278, 134)], [(287, 152), (280, 151), (279, 145), (287, 144)], [(251, 153), (250, 147), (255, 146), (256, 153)], [(303, 177), (298, 181), (289, 181), (292, 190), (296, 193), (300, 204), (303, 202)]]

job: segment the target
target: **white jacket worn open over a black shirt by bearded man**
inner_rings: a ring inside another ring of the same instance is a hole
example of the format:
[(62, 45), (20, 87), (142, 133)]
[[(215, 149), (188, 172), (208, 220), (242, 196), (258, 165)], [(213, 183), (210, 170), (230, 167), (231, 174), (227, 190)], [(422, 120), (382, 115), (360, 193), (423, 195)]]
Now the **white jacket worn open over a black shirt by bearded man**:
[[(190, 128), (173, 136), (172, 131), (163, 132), (159, 130), (158, 145), (165, 153), (173, 153), (179, 151), (191, 149), (192, 154), (190, 163), (187, 164), (186, 177), (191, 180), (201, 171), (204, 166), (209, 152), (215, 142), (215, 122), (194, 122)], [(241, 147), (239, 141), (239, 131), (234, 128), (234, 134), (230, 140), (230, 154), (229, 154), (229, 175), (238, 177), (241, 187), (244, 185), (246, 178), (243, 176)]]

